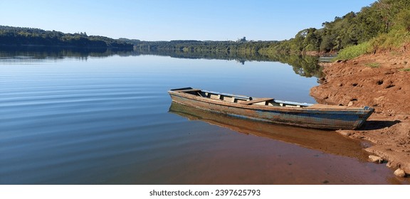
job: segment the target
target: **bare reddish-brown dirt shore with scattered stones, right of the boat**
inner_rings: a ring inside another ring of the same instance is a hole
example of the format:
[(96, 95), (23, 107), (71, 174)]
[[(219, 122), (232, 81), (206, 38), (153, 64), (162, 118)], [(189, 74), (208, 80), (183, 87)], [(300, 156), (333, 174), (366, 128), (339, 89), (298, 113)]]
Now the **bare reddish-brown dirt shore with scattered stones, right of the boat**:
[[(406, 46), (408, 47), (408, 46)], [(357, 130), (339, 130), (373, 143), (369, 153), (410, 176), (410, 52), (400, 50), (325, 63), (326, 77), (310, 95), (322, 104), (372, 106), (375, 112)]]

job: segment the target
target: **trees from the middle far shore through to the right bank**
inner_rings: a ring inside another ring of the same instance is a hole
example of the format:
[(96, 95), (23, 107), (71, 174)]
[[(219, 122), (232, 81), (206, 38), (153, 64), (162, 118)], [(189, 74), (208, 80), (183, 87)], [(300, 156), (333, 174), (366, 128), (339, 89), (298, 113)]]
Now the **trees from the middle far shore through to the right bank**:
[[(285, 41), (139, 41), (122, 39), (135, 45), (135, 50), (179, 50), (182, 52), (215, 51), (230, 53), (335, 53), (381, 35), (410, 31), (409, 0), (379, 0), (361, 11), (350, 12), (334, 21), (322, 23), (322, 28), (306, 28)], [(389, 36), (387, 36), (389, 37)], [(387, 38), (383, 38), (386, 40)], [(394, 39), (394, 38), (393, 38)]]

